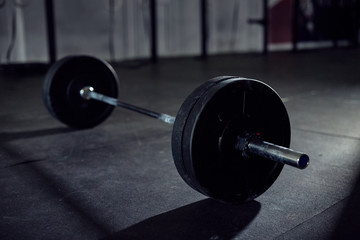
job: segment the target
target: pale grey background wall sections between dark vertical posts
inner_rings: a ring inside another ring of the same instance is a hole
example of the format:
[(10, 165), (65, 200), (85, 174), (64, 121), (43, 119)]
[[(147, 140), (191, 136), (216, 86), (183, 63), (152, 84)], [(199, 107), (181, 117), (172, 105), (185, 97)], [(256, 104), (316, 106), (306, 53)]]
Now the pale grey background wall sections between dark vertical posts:
[[(23, 0), (15, 7), (6, 0), (0, 8), (1, 63), (12, 27), (16, 41), (10, 62), (46, 61), (45, 9), (42, 0)], [(148, 0), (114, 0), (110, 20), (109, 0), (55, 0), (58, 56), (87, 53), (109, 58), (109, 34), (113, 31), (116, 59), (149, 56), (150, 16)], [(200, 52), (200, 1), (158, 0), (158, 51), (161, 56), (196, 55)], [(247, 24), (250, 16), (261, 16), (261, 1), (209, 1), (209, 51), (258, 51), (261, 28)], [(15, 9), (15, 14), (14, 14)], [(15, 15), (15, 24), (14, 17)]]

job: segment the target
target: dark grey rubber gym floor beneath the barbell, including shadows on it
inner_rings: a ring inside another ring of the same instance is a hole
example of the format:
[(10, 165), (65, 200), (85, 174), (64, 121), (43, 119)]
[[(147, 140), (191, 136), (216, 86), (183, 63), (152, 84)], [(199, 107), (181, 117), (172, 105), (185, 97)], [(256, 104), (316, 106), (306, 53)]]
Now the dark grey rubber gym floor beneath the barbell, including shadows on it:
[(359, 62), (360, 50), (337, 49), (115, 64), (121, 100), (171, 115), (219, 75), (258, 79), (280, 94), (291, 147), (310, 165), (285, 166), (241, 205), (186, 185), (171, 125), (118, 108), (74, 131), (47, 112), (43, 73), (1, 72), (0, 239), (359, 239)]

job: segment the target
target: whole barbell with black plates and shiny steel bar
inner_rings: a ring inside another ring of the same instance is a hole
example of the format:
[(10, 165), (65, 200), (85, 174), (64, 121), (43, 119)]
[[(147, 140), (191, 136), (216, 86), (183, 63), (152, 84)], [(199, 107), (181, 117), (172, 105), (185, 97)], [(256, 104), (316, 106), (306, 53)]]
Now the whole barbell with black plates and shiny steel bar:
[(250, 201), (277, 179), (284, 164), (304, 169), (305, 153), (289, 149), (290, 121), (279, 95), (254, 79), (206, 81), (176, 117), (122, 102), (118, 77), (106, 61), (70, 56), (47, 72), (43, 99), (49, 112), (75, 129), (103, 122), (115, 106), (173, 124), (172, 155), (183, 180), (211, 198)]

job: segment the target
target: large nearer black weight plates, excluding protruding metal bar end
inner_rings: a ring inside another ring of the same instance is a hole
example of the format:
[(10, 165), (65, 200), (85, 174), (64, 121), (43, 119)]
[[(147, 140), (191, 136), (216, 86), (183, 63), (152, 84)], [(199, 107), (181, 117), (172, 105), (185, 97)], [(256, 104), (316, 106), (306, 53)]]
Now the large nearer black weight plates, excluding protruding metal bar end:
[[(206, 86), (206, 85), (205, 85)], [(201, 88), (201, 86), (200, 86)], [(189, 96), (191, 97), (191, 95)], [(259, 133), (284, 147), (290, 145), (290, 122), (281, 98), (268, 85), (256, 80), (230, 78), (202, 92), (187, 114), (177, 116), (186, 123), (181, 148), (174, 155), (180, 174), (197, 191), (212, 198), (240, 203), (265, 192), (279, 176), (283, 164), (252, 157), (235, 150), (237, 136)]]

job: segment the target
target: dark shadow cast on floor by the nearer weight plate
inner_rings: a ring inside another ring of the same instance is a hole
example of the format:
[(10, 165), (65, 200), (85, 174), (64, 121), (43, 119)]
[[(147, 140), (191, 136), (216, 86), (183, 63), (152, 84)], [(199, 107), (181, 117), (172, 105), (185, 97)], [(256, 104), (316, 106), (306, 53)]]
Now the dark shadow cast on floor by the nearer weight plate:
[(103, 240), (232, 239), (255, 219), (261, 205), (230, 205), (205, 199), (146, 219)]

